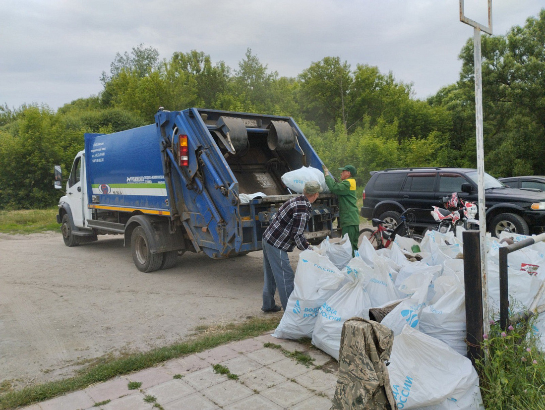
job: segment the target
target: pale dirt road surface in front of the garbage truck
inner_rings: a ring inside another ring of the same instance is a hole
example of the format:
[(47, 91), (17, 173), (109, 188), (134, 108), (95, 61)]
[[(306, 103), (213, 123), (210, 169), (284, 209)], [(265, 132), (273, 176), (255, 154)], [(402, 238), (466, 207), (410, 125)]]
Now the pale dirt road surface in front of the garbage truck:
[[(294, 268), (298, 255), (290, 254)], [(0, 382), (70, 376), (108, 352), (148, 350), (198, 325), (263, 315), (262, 256), (187, 253), (172, 269), (142, 273), (122, 236), (68, 248), (56, 232), (0, 234)]]

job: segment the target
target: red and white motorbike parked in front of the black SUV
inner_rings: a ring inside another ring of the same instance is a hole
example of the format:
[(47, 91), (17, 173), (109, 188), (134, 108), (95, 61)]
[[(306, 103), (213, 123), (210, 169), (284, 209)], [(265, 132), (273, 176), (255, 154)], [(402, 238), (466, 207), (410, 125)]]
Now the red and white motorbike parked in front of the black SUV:
[(475, 219), (477, 215), (477, 205), (470, 201), (464, 201), (458, 197), (457, 192), (453, 192), (448, 197), (443, 197), (445, 209), (439, 206), (432, 206), (432, 216), (439, 222), (437, 230), (443, 234), (449, 231), (455, 231), (457, 226), (464, 229), (477, 229), (479, 221)]

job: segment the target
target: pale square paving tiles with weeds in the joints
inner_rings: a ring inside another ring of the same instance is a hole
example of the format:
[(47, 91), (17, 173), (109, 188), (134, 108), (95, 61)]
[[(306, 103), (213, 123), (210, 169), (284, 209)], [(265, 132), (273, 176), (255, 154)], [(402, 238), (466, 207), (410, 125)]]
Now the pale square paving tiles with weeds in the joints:
[[(280, 345), (314, 359), (303, 365)], [(238, 379), (217, 374), (221, 364)], [(270, 333), (192, 354), (37, 403), (27, 410), (329, 409), (338, 365), (327, 354)], [(141, 387), (129, 390), (129, 382)]]

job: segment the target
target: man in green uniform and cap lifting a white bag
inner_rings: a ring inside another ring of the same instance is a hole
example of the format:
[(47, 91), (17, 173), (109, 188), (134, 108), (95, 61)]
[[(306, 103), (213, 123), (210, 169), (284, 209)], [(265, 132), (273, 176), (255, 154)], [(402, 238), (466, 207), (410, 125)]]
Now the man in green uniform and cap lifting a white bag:
[(341, 219), (342, 235), (348, 234), (352, 249), (358, 249), (358, 234), (360, 232), (360, 213), (356, 205), (356, 168), (352, 165), (339, 168), (341, 172), (341, 182), (336, 182), (325, 167), (325, 183), (329, 190), (337, 194), (339, 199), (339, 217)]

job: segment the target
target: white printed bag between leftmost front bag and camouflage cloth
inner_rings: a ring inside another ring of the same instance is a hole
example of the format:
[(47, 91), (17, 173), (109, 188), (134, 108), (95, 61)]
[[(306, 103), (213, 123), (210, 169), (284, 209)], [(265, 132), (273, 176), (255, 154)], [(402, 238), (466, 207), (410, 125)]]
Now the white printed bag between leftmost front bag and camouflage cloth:
[(312, 333), (312, 344), (338, 360), (343, 323), (354, 316), (369, 319), (371, 301), (362, 284), (362, 278), (349, 275), (352, 282), (345, 284), (331, 296), (318, 311)]

